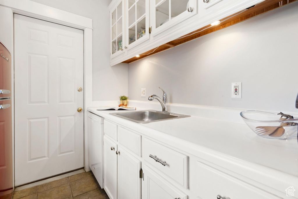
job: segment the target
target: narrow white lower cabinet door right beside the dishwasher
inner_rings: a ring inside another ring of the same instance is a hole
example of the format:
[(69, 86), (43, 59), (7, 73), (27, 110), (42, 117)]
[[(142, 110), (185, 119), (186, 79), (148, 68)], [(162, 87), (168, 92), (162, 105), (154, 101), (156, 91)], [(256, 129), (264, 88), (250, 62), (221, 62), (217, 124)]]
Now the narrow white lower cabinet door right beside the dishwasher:
[(103, 186), (110, 199), (117, 199), (117, 144), (103, 137)]

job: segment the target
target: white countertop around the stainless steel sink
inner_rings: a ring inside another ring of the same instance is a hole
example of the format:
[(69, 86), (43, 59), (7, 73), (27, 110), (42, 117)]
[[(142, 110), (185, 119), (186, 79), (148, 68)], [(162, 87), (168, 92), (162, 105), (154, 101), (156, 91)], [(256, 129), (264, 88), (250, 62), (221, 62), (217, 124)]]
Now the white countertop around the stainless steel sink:
[(190, 154), (216, 152), (249, 168), (256, 166), (287, 175), (298, 183), (297, 135), (275, 140), (257, 136), (246, 124), (209, 118), (191, 116), (137, 124), (109, 114), (119, 111), (98, 111), (96, 107), (88, 111)]

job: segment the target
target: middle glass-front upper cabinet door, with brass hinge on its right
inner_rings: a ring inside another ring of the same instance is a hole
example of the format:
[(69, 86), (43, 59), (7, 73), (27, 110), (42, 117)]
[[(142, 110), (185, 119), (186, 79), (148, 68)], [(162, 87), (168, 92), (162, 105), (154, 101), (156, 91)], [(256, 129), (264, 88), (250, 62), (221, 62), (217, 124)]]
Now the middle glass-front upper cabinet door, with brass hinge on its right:
[(149, 39), (149, 0), (125, 0), (127, 49)]

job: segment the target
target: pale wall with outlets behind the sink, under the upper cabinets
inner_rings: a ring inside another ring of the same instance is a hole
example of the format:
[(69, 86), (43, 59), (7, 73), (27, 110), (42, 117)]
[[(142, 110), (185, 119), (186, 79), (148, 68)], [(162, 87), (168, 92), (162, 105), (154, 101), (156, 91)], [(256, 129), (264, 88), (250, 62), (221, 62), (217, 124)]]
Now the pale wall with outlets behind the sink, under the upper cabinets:
[[(130, 99), (162, 87), (168, 103), (297, 112), (297, 10), (294, 2), (130, 63)], [(242, 82), (242, 99), (231, 98), (232, 82)]]

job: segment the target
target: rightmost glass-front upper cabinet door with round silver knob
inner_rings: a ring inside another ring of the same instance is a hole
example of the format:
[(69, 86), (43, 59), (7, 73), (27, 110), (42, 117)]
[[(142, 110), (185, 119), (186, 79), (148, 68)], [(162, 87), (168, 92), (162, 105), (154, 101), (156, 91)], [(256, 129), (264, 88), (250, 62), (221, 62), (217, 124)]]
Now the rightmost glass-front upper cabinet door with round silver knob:
[(196, 0), (150, 1), (150, 24), (155, 36), (197, 13)]

